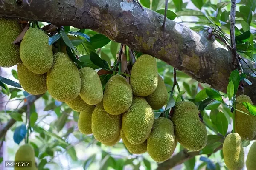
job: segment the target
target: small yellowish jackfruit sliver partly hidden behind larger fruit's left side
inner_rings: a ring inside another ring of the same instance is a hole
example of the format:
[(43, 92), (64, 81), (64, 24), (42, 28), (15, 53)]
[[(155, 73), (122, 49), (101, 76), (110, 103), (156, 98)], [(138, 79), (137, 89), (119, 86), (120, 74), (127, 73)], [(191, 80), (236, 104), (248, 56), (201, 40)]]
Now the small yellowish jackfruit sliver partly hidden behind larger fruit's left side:
[(79, 132), (89, 135), (92, 134), (92, 114), (95, 106), (89, 107), (86, 111), (82, 111), (79, 114), (77, 126)]

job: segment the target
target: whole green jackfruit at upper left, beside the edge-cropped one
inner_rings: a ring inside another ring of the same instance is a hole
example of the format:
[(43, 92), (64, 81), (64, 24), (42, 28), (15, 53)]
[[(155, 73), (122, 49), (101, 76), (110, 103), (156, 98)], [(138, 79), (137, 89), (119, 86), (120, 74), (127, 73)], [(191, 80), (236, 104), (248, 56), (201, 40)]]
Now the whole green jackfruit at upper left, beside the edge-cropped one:
[(20, 58), (30, 71), (44, 74), (52, 68), (52, 45), (44, 31), (30, 28), (26, 31), (20, 43)]

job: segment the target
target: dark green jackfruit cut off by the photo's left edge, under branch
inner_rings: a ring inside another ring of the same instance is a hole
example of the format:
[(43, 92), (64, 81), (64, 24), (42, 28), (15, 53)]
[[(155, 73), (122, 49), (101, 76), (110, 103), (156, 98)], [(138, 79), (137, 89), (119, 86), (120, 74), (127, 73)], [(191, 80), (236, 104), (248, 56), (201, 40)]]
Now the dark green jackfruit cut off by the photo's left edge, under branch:
[(20, 48), (12, 44), (21, 33), (17, 20), (0, 18), (0, 66), (12, 67), (20, 60)]

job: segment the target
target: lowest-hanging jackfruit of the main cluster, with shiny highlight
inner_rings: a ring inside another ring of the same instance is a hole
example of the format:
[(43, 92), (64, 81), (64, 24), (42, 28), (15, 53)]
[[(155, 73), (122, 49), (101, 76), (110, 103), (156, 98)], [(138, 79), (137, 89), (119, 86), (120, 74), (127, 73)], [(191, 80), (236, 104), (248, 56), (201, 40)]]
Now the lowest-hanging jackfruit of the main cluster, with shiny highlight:
[(147, 140), (148, 154), (154, 161), (163, 162), (169, 159), (176, 145), (172, 121), (165, 117), (155, 119)]

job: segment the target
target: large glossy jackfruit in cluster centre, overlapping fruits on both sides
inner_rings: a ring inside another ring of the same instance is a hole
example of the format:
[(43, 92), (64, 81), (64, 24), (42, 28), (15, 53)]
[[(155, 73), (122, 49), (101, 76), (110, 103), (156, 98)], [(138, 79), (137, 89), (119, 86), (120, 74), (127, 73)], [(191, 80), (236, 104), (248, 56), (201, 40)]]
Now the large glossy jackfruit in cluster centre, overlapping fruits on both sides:
[(131, 144), (141, 144), (151, 132), (154, 112), (143, 97), (134, 96), (131, 107), (122, 114), (122, 130)]

